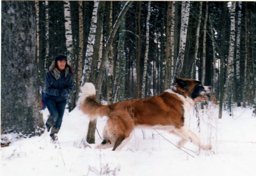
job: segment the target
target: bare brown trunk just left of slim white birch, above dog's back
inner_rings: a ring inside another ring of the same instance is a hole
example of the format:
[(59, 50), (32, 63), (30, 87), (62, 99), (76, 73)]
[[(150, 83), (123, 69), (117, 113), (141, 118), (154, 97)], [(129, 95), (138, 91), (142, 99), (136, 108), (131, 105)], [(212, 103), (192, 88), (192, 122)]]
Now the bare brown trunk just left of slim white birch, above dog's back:
[(142, 9), (142, 1), (139, 1), (139, 16), (138, 16), (138, 54), (137, 54), (137, 98), (140, 98), (140, 56), (142, 52), (142, 41), (141, 41), (141, 9)]

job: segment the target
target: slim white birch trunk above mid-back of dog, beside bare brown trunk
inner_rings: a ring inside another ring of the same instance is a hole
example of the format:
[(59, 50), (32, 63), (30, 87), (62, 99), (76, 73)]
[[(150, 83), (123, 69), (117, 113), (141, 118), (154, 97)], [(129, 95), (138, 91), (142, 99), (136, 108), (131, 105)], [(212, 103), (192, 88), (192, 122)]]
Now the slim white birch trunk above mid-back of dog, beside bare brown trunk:
[[(149, 19), (150, 19), (150, 4), (148, 2), (148, 16), (146, 18), (146, 51), (144, 57), (144, 68), (143, 68), (143, 76), (142, 76), (142, 98), (145, 98), (145, 87), (146, 87), (146, 73), (148, 68), (148, 52), (149, 52)], [(167, 68), (166, 68), (167, 69)]]

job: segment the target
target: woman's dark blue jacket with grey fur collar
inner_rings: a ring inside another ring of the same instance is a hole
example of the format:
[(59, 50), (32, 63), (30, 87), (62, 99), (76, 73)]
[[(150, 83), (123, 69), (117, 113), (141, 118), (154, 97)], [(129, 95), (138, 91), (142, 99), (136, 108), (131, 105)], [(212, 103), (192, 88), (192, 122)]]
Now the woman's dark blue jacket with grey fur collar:
[[(54, 62), (50, 69), (54, 67)], [(63, 95), (60, 96), (60, 91), (63, 90)], [(73, 78), (69, 72), (69, 68), (65, 68), (60, 72), (57, 68), (53, 69), (53, 72), (48, 71), (46, 73), (46, 93), (45, 98), (51, 98), (56, 102), (66, 100), (66, 95), (73, 90)]]

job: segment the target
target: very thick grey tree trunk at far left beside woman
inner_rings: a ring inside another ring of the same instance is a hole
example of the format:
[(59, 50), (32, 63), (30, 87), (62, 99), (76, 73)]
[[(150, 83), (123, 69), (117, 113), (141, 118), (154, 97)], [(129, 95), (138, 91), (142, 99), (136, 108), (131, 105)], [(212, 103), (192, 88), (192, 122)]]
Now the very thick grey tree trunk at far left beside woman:
[(2, 1), (1, 11), (1, 134), (41, 135), (35, 2)]

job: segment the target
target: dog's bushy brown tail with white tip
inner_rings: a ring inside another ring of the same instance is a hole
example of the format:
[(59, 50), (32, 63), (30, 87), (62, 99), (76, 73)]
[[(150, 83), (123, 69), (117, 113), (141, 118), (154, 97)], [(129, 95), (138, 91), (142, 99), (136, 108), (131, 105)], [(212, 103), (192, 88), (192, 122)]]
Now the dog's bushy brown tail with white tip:
[(78, 99), (80, 109), (84, 114), (89, 115), (90, 121), (108, 114), (108, 106), (98, 103), (95, 94), (95, 86), (92, 83), (85, 83), (81, 87), (81, 94)]

